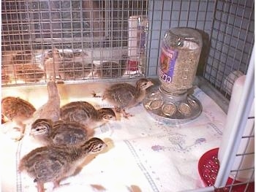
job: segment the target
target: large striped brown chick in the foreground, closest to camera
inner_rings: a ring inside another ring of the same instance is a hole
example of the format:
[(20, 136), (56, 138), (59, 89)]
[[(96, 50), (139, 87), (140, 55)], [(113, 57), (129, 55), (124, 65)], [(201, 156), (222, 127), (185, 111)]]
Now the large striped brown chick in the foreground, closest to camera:
[(32, 150), (19, 164), (20, 172), (26, 171), (37, 183), (37, 191), (43, 192), (44, 183), (53, 182), (54, 187), (65, 177), (74, 174), (86, 155), (99, 153), (107, 145), (93, 137), (80, 145), (48, 145)]

